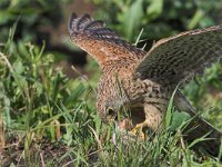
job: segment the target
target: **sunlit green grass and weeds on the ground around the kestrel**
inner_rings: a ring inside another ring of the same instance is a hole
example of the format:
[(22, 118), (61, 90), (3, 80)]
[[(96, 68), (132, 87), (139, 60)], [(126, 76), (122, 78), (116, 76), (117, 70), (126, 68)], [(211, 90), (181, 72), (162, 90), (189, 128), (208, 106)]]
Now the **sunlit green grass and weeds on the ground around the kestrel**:
[[(97, 114), (97, 81), (67, 78), (54, 66), (54, 56), (44, 53), (44, 45), (14, 46), (13, 31), (0, 48), (0, 118), (6, 135), (2, 166), (220, 166), (216, 159), (190, 150), (180, 128), (175, 132), (167, 128), (151, 141), (123, 144), (114, 127), (102, 124)], [(209, 98), (211, 94), (204, 88), (212, 84), (221, 92), (221, 68), (220, 63), (213, 66), (184, 88), (193, 105), (201, 105), (204, 98), (215, 105), (211, 111), (208, 106), (202, 109), (219, 128), (221, 99)], [(167, 117), (171, 128), (181, 125), (176, 120), (184, 117), (172, 110), (171, 104)]]

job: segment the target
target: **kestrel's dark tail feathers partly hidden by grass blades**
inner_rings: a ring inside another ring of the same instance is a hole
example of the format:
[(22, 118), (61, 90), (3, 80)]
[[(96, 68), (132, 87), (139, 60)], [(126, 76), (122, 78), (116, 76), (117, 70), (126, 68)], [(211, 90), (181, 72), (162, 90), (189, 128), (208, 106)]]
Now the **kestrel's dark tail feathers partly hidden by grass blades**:
[(218, 157), (220, 154), (222, 132), (198, 116), (195, 109), (180, 90), (175, 96), (174, 104), (179, 110), (186, 111), (193, 117), (191, 122), (183, 130), (184, 139), (188, 143), (192, 143), (195, 139), (205, 136), (206, 140), (196, 143), (193, 146), (193, 149), (196, 151), (204, 149), (210, 155)]

